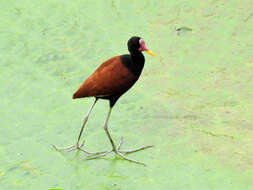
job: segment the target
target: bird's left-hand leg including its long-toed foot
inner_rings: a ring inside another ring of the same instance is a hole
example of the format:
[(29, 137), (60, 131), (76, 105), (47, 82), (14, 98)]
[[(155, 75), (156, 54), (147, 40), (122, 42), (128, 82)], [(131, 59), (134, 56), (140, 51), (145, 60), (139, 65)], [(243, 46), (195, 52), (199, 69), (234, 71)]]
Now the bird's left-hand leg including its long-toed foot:
[(103, 154), (105, 153), (105, 151), (103, 152), (88, 152), (84, 149), (82, 149), (83, 145), (84, 145), (84, 141), (82, 142), (82, 144), (80, 144), (80, 138), (82, 136), (82, 133), (83, 133), (83, 129), (85, 127), (85, 124), (87, 123), (88, 121), (88, 118), (89, 118), (89, 115), (93, 109), (93, 107), (95, 106), (96, 102), (97, 102), (97, 98), (95, 99), (95, 101), (93, 102), (93, 104), (91, 105), (90, 109), (88, 110), (87, 114), (85, 115), (84, 117), (84, 121), (83, 121), (83, 125), (82, 125), (82, 128), (81, 128), (81, 131), (78, 135), (78, 139), (77, 139), (77, 142), (75, 145), (72, 145), (72, 146), (68, 146), (68, 147), (57, 147), (55, 145), (53, 145), (53, 147), (56, 149), (56, 150), (66, 150), (66, 151), (72, 151), (72, 150), (81, 150), (83, 151), (84, 153), (88, 154), (88, 155), (96, 155), (96, 154)]

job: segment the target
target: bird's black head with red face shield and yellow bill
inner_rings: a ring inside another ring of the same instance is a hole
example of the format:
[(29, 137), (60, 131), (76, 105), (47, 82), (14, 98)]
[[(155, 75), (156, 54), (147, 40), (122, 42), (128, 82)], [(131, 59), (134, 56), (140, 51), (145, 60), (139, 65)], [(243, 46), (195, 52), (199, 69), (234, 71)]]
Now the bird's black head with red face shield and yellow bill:
[(131, 55), (140, 54), (142, 51), (145, 51), (154, 56), (154, 54), (146, 48), (144, 40), (138, 36), (131, 37), (127, 42), (127, 46)]

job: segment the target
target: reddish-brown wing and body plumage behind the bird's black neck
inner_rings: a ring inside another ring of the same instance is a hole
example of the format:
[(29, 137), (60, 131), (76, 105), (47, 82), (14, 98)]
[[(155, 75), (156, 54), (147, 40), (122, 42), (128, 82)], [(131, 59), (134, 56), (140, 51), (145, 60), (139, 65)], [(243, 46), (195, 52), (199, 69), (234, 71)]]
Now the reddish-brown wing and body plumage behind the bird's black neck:
[(137, 81), (122, 64), (120, 56), (113, 57), (102, 63), (74, 93), (73, 98), (104, 97), (121, 95)]

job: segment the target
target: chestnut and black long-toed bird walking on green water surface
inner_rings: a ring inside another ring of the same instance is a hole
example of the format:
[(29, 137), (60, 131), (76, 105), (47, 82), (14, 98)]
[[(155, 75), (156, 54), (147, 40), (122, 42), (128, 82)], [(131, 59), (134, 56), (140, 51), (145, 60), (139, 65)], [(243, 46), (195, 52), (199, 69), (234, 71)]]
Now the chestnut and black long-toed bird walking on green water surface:
[[(123, 143), (123, 138), (120, 138), (120, 142), (116, 146), (108, 130), (108, 121), (112, 108), (118, 99), (136, 83), (142, 73), (145, 63), (145, 57), (142, 52), (144, 51), (154, 56), (154, 53), (147, 49), (145, 42), (141, 37), (131, 37), (127, 42), (127, 46), (130, 54), (115, 56), (103, 62), (75, 91), (73, 99), (94, 97), (95, 100), (84, 117), (83, 125), (76, 144), (68, 147), (57, 147), (53, 145), (56, 150), (81, 150), (88, 154), (89, 159), (102, 158), (107, 154), (114, 152), (125, 160), (145, 165), (142, 162), (126, 157), (125, 154), (151, 148), (153, 147), (152, 145), (143, 146), (134, 150), (121, 150), (120, 147)], [(97, 101), (100, 99), (109, 100), (109, 111), (104, 123), (104, 130), (112, 145), (112, 149), (102, 152), (88, 152), (82, 148), (85, 141), (80, 144), (80, 139), (89, 115)]]

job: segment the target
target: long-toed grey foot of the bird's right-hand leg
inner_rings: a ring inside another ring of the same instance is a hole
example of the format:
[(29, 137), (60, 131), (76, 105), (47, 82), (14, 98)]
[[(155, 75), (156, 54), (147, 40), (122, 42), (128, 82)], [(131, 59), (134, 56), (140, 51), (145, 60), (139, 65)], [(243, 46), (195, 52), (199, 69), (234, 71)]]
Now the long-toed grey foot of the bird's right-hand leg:
[(120, 142), (119, 142), (119, 145), (115, 148), (115, 150), (110, 150), (110, 151), (106, 151), (104, 153), (101, 153), (100, 155), (98, 156), (92, 156), (88, 159), (97, 159), (97, 158), (102, 158), (102, 157), (105, 157), (107, 154), (111, 153), (111, 152), (114, 152), (116, 155), (120, 156), (121, 158), (123, 158), (124, 160), (128, 160), (130, 162), (133, 162), (133, 163), (136, 163), (136, 164), (141, 164), (141, 165), (144, 165), (146, 166), (146, 164), (142, 163), (142, 162), (139, 162), (139, 161), (136, 161), (136, 160), (133, 160), (133, 159), (130, 159), (130, 158), (127, 158), (125, 155), (123, 154), (129, 154), (129, 153), (133, 153), (133, 152), (137, 152), (137, 151), (140, 151), (140, 150), (144, 150), (144, 149), (147, 149), (147, 148), (151, 148), (153, 147), (153, 145), (149, 145), (149, 146), (143, 146), (143, 147), (140, 147), (140, 148), (136, 148), (136, 149), (133, 149), (133, 150), (120, 150), (120, 147), (123, 143), (123, 138), (121, 137), (120, 138)]

